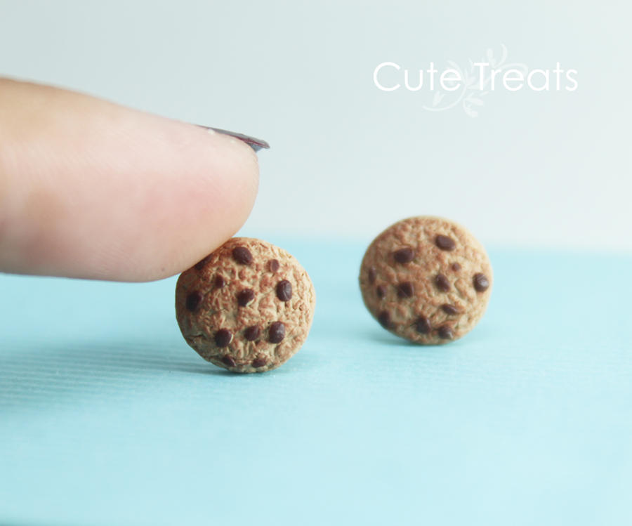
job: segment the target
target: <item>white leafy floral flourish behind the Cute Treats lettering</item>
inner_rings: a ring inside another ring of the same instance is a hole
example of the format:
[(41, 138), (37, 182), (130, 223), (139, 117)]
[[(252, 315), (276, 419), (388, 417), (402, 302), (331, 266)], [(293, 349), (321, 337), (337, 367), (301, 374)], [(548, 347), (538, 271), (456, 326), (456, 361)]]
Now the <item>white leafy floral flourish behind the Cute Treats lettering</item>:
[(486, 57), (478, 60), (478, 62), (489, 63), (489, 67), (486, 67), (487, 75), (483, 77), (482, 89), (480, 86), (480, 67), (475, 66), (475, 62), (470, 59), (470, 67), (464, 69), (459, 67), (453, 60), (448, 60), (447, 65), (459, 72), (459, 77), (462, 79), (462, 86), (459, 91), (436, 91), (433, 97), (432, 105), (423, 106), (424, 110), (429, 112), (443, 112), (449, 110), (452, 107), (461, 105), (463, 111), (470, 117), (478, 117), (478, 111), (474, 109), (475, 106), (482, 106), (485, 102), (483, 97), (487, 96), (490, 92), (489, 83), (492, 81), (492, 70), (502, 72), (505, 70), (519, 70), (522, 74), (527, 74), (529, 68), (526, 64), (522, 63), (507, 63), (507, 47), (505, 44), (501, 44), (501, 56), (496, 59), (494, 57), (494, 51), (491, 48), (487, 49)]

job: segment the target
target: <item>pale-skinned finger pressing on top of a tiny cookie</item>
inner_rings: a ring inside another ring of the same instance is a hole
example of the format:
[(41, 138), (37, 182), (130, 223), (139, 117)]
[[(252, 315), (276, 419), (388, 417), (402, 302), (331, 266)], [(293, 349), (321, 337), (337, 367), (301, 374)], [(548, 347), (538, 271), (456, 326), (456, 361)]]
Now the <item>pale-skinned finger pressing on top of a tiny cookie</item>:
[(246, 221), (254, 150), (198, 126), (0, 79), (0, 271), (159, 280)]

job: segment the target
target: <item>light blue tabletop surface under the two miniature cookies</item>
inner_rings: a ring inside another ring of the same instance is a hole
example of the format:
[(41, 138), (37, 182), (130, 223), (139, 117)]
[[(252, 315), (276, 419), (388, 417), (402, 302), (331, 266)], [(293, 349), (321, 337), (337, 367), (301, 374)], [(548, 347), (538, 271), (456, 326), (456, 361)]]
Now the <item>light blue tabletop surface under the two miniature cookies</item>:
[(362, 244), (282, 246), (317, 313), (269, 374), (188, 348), (173, 279), (1, 276), (0, 523), (632, 521), (631, 258), (492, 251), (480, 325), (421, 348), (364, 310)]

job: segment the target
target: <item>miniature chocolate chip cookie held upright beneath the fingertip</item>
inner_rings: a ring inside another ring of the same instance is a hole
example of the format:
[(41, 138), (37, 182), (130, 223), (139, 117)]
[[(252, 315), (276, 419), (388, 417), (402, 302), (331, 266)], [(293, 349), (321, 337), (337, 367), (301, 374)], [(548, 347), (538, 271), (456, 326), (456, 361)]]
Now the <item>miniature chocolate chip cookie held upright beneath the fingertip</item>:
[(264, 372), (301, 348), (315, 301), (294, 256), (261, 239), (233, 237), (180, 275), (176, 318), (204, 360), (233, 372)]

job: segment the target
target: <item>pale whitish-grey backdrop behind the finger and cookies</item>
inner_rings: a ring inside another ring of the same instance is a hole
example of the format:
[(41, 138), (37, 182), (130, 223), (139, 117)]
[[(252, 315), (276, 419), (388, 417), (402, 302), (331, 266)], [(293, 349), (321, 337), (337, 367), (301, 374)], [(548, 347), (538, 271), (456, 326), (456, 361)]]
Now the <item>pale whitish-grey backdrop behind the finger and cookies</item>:
[[(268, 140), (248, 235), (370, 239), (431, 213), (492, 244), (632, 251), (630, 15), (624, 1), (0, 1), (0, 74)], [(383, 61), (467, 65), (501, 43), (510, 61), (578, 70), (579, 88), (497, 91), (473, 119), (372, 81)]]

